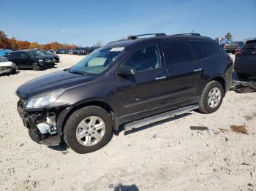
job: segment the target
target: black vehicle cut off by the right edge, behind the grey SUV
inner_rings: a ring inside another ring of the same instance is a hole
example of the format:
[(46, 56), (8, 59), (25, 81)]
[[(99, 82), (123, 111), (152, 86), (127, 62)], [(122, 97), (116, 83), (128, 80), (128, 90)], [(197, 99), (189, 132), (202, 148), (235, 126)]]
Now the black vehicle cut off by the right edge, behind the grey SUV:
[(244, 47), (236, 50), (234, 71), (240, 77), (256, 75), (256, 40), (247, 41)]

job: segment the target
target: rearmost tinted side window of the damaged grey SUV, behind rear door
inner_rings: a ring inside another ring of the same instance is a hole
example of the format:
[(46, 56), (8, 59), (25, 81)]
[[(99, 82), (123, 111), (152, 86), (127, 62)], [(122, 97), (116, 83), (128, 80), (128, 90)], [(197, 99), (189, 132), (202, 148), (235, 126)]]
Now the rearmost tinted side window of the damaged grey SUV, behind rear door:
[(220, 50), (219, 44), (214, 42), (192, 41), (191, 44), (196, 59), (207, 58)]

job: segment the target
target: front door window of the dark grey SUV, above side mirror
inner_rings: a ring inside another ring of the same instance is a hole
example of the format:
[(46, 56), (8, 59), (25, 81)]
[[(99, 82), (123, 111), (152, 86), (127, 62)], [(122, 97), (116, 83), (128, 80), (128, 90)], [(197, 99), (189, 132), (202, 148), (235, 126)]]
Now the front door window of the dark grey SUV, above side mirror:
[(161, 68), (162, 60), (158, 45), (151, 45), (138, 50), (124, 63), (124, 66), (130, 66), (137, 72)]

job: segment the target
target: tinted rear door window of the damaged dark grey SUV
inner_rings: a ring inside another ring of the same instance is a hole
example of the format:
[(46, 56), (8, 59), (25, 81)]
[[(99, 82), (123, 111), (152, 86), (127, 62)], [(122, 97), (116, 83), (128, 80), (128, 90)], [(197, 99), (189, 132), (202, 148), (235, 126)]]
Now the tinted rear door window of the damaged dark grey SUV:
[(170, 64), (186, 63), (194, 60), (188, 42), (164, 42), (163, 45)]

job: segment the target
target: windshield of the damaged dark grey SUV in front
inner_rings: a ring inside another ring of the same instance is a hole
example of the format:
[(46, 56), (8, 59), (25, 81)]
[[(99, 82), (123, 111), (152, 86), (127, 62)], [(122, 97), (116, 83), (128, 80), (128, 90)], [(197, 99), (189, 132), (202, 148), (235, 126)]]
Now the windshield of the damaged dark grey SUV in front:
[(116, 62), (122, 50), (124, 47), (102, 47), (75, 64), (70, 72), (100, 74)]

